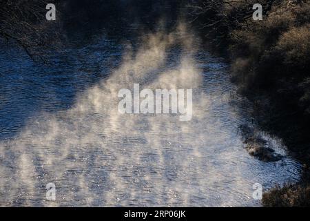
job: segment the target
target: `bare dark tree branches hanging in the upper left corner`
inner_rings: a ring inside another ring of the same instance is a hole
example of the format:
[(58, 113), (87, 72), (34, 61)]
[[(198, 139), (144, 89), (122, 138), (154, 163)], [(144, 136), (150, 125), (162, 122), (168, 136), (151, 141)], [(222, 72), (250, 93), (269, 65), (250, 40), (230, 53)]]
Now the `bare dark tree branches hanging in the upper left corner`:
[(14, 41), (32, 59), (46, 61), (46, 50), (55, 45), (57, 22), (45, 19), (45, 0), (0, 0), (0, 38)]

